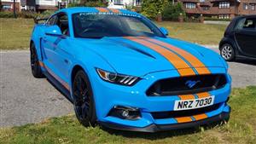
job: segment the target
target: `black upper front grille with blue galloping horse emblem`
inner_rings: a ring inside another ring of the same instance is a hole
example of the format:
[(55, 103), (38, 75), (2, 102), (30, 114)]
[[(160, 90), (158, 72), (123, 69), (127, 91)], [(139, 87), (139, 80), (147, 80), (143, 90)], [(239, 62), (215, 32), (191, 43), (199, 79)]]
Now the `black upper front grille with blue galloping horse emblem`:
[(148, 96), (188, 95), (223, 88), (224, 74), (197, 75), (179, 78), (166, 78), (155, 82), (146, 91)]

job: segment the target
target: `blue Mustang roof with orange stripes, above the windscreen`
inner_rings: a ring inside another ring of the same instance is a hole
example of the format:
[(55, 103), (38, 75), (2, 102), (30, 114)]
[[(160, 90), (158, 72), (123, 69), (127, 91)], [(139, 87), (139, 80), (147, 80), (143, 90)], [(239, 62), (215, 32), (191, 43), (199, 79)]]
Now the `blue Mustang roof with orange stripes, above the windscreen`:
[[(59, 12), (65, 12), (67, 14), (75, 14), (75, 13), (98, 13), (100, 12), (98, 9), (108, 9), (108, 8), (98, 8), (98, 7), (73, 7), (73, 8), (67, 8), (67, 9), (61, 9), (57, 11), (56, 13)], [(134, 11), (131, 10), (126, 10), (126, 9), (118, 9), (121, 14), (137, 14)], [(112, 12), (111, 9), (108, 9), (108, 11)]]

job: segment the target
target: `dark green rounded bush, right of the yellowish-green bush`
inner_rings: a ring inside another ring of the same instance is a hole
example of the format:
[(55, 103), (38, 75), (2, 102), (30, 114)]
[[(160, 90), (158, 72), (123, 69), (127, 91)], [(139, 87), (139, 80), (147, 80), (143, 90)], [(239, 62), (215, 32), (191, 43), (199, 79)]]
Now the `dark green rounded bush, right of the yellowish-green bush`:
[(172, 4), (168, 3), (163, 9), (163, 20), (178, 20), (180, 14), (183, 14), (183, 18), (186, 17), (186, 13), (183, 10), (182, 3)]

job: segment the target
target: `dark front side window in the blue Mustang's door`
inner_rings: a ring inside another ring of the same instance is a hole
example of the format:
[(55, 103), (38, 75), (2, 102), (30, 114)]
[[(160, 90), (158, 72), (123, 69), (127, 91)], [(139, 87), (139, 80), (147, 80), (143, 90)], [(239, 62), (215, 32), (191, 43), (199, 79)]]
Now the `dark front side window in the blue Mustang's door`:
[(55, 25), (60, 27), (63, 35), (69, 36), (68, 19), (66, 14), (59, 14), (55, 20)]

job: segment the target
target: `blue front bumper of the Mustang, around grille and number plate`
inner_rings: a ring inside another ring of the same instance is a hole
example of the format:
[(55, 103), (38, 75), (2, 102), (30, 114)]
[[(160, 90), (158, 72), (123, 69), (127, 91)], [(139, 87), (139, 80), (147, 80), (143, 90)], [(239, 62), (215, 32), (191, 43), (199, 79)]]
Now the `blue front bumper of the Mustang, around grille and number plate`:
[[(225, 72), (221, 68), (212, 68), (211, 71), (214, 73)], [(146, 90), (149, 86), (154, 84), (158, 79), (169, 78), (170, 75), (178, 77), (172, 71), (150, 73), (132, 87), (109, 84), (108, 82), (102, 81), (101, 78), (94, 78), (92, 86), (96, 100), (96, 115), (99, 123), (102, 126), (118, 130), (154, 132), (158, 130), (183, 129), (228, 118), (230, 107), (226, 102), (228, 101), (231, 88), (231, 78), (229, 75), (227, 75), (228, 82), (224, 88), (208, 91), (210, 95), (215, 96), (214, 105), (219, 106), (216, 109), (202, 113), (191, 112), (187, 116), (182, 116), (185, 118), (189, 117), (189, 120), (182, 119), (182, 121), (179, 121), (176, 117), (172, 116), (154, 118), (152, 115), (153, 112), (173, 112), (175, 101), (180, 100), (178, 95), (151, 97), (146, 95)], [(113, 117), (109, 115), (109, 112), (115, 106), (136, 107), (141, 112), (142, 117), (137, 120)], [(200, 114), (203, 114), (203, 117)]]

